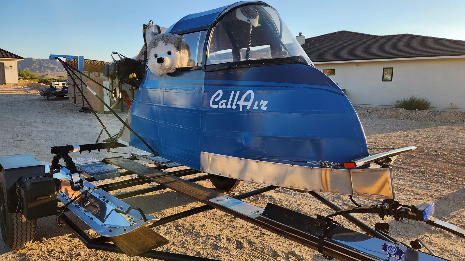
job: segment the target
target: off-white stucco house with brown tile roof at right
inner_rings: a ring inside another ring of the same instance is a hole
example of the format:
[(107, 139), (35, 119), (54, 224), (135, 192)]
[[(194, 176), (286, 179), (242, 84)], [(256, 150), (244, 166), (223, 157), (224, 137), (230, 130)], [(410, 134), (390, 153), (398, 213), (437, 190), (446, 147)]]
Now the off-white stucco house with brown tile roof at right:
[(430, 109), (465, 111), (465, 41), (339, 31), (302, 47), (353, 105), (387, 108), (414, 95)]

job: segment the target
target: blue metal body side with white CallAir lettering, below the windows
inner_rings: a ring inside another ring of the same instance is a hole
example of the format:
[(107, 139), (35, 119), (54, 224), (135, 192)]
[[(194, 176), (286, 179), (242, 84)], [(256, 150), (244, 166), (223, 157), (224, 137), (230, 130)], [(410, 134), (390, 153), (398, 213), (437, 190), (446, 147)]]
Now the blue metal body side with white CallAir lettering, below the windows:
[[(352, 104), (330, 78), (303, 64), (146, 71), (131, 127), (161, 157), (197, 170), (200, 151), (332, 162), (368, 155)], [(130, 144), (147, 150), (133, 135)]]

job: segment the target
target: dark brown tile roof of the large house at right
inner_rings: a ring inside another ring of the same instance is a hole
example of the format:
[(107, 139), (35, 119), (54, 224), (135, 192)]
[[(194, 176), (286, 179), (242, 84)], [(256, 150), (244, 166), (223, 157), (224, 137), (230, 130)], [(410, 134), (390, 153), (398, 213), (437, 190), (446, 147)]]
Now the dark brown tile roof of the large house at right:
[(307, 38), (302, 47), (313, 62), (465, 55), (465, 41), (408, 33), (339, 31)]

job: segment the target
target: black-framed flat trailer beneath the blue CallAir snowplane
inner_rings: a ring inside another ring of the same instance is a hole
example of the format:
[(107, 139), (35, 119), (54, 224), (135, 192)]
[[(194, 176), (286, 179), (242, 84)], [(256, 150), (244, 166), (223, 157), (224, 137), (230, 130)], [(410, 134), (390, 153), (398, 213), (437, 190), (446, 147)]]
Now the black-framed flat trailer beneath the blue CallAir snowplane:
[[(267, 203), (265, 208), (259, 208), (242, 201), (247, 197), (279, 188), (276, 185), (267, 185), (241, 195), (228, 196), (218, 190), (194, 183), (214, 178), (214, 175), (191, 168), (169, 171), (173, 167), (179, 167), (179, 164), (153, 155), (133, 153), (131, 157), (127, 158), (113, 157), (106, 158), (101, 162), (80, 164), (74, 164), (73, 159), (70, 157), (71, 152), (102, 150), (119, 146), (121, 144), (115, 143), (54, 146), (51, 148), (52, 153), (55, 155), (51, 164), (40, 163), (27, 154), (0, 156), (0, 165), (2, 166), (0, 172), (2, 181), (0, 204), (3, 205), (2, 232), (8, 246), (10, 248), (19, 248), (27, 244), (27, 241), (32, 240), (31, 235), (33, 237), (33, 234), (35, 234), (35, 219), (46, 215), (55, 215), (57, 223), (66, 225), (87, 248), (125, 253), (129, 256), (138, 255), (158, 260), (212, 260), (208, 257), (187, 256), (153, 250), (168, 244), (169, 241), (150, 229), (210, 209), (219, 209), (260, 228), (317, 250), (329, 260), (336, 258), (344, 261), (384, 261), (390, 260), (392, 256), (399, 261), (445, 260), (435, 256), (432, 254), (433, 252), (419, 252), (420, 243), (418, 240), (412, 241), (411, 245), (400, 243), (389, 235), (387, 223), (377, 223), (375, 228), (371, 228), (352, 216), (353, 213), (373, 213), (383, 219), (388, 216), (396, 220), (408, 218), (465, 237), (465, 230), (432, 216), (434, 204), (405, 206), (397, 200), (385, 199), (371, 206), (340, 209), (320, 193), (300, 191), (309, 193), (335, 211), (332, 215), (323, 216), (317, 213), (315, 216), (309, 216), (272, 203)], [(379, 159), (397, 156), (401, 151), (412, 150), (412, 147), (407, 146), (406, 148), (391, 150), (368, 160), (373, 160), (375, 157)], [(64, 160), (66, 166), (59, 164), (60, 159)], [(147, 165), (147, 161), (151, 162), (152, 166)], [(39, 172), (32, 174), (35, 171)], [(74, 171), (79, 174), (70, 174), (74, 173)], [(28, 175), (23, 176), (24, 173), (28, 173)], [(196, 174), (196, 176), (183, 178), (193, 174)], [(53, 176), (53, 178), (50, 176)], [(130, 178), (100, 186), (93, 184), (98, 180), (111, 180), (115, 176)], [(18, 181), (13, 185), (8, 185), (15, 179)], [(71, 181), (71, 183), (66, 184), (66, 181)], [(117, 195), (109, 193), (116, 189), (130, 188), (152, 182), (158, 183), (158, 185)], [(11, 193), (11, 189), (13, 189), (13, 193)], [(204, 205), (175, 215), (154, 218), (145, 215), (142, 209), (121, 201), (127, 197), (143, 195), (162, 189), (172, 189), (202, 202)], [(16, 191), (20, 191), (19, 202)], [(56, 205), (56, 200), (60, 202), (60, 207), (51, 207), (53, 202)], [(20, 217), (18, 214), (14, 214), (14, 211), (13, 213), (5, 211), (6, 208), (16, 209), (19, 205), (22, 208), (23, 217), (27, 219), (21, 222)], [(40, 207), (40, 213), (35, 209), (37, 207)], [(82, 228), (68, 217), (71, 213), (77, 215), (101, 236), (89, 238)], [(339, 222), (333, 219), (337, 215), (342, 215), (364, 230), (365, 233), (340, 225)], [(12, 221), (13, 224), (20, 222), (21, 225), (12, 227)]]

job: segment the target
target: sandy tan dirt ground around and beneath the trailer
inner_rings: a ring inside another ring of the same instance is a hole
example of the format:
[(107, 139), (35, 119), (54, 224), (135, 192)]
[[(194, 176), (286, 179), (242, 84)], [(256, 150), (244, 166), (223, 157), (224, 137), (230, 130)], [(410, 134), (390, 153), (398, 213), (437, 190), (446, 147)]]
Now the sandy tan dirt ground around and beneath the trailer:
[[(23, 83), (24, 84), (24, 83)], [(44, 87), (46, 87), (44, 85)], [(39, 96), (41, 86), (0, 85), (0, 155), (29, 153), (40, 161), (50, 162), (50, 147), (65, 144), (94, 143), (101, 130), (92, 114), (79, 112), (80, 106), (67, 98), (50, 98), (46, 102)], [(364, 126), (369, 147), (401, 147), (415, 145), (417, 150), (402, 154), (393, 164), (396, 196), (405, 205), (424, 202), (436, 204), (436, 216), (462, 228), (465, 219), (465, 126), (464, 112), (454, 112), (446, 122), (433, 117), (408, 118), (394, 115), (397, 110), (356, 108)], [(370, 111), (370, 112), (368, 112)], [(381, 113), (380, 111), (383, 111)], [(377, 113), (375, 113), (377, 112)], [(442, 112), (422, 112), (444, 114)], [(451, 114), (451, 113), (449, 113)], [(383, 115), (381, 117), (380, 115)], [(394, 117), (392, 117), (394, 115)], [(399, 114), (400, 115), (400, 112)], [(124, 116), (124, 113), (121, 113)], [(100, 115), (111, 134), (121, 124), (112, 115)], [(400, 119), (402, 117), (402, 119)], [(436, 117), (436, 116), (435, 116)], [(455, 123), (454, 123), (455, 122)], [(119, 152), (136, 151), (133, 148), (118, 149)], [(372, 150), (371, 153), (379, 152)], [(124, 156), (125, 154), (76, 153), (73, 158)], [(199, 182), (213, 187), (210, 182)], [(153, 184), (152, 184), (153, 185)], [(242, 183), (229, 195), (245, 193), (260, 186)], [(115, 191), (120, 193), (124, 190)], [(325, 195), (342, 208), (352, 206), (347, 196)], [(361, 203), (375, 201), (357, 198)], [(331, 211), (308, 194), (288, 189), (275, 189), (247, 200), (264, 208), (267, 202), (314, 216)], [(164, 217), (199, 206), (198, 202), (171, 190), (157, 191), (125, 202), (140, 207), (147, 215)], [(70, 214), (71, 216), (72, 214)], [(381, 222), (378, 216), (355, 215), (373, 225)], [(344, 219), (338, 221), (360, 231)], [(418, 222), (394, 221), (386, 218), (392, 235), (405, 243), (420, 238), (438, 256), (452, 261), (465, 259), (464, 240), (448, 232)], [(96, 236), (82, 222), (78, 223), (86, 233)], [(66, 227), (58, 227), (54, 217), (37, 221), (37, 234), (33, 244), (20, 250), (10, 250), (0, 240), (0, 260), (8, 261), (140, 261), (143, 257), (128, 257), (124, 254), (87, 249)], [(209, 210), (154, 228), (170, 240), (158, 248), (178, 254), (189, 254), (219, 260), (325, 260), (317, 251), (275, 235), (264, 229), (241, 221), (219, 210)]]

